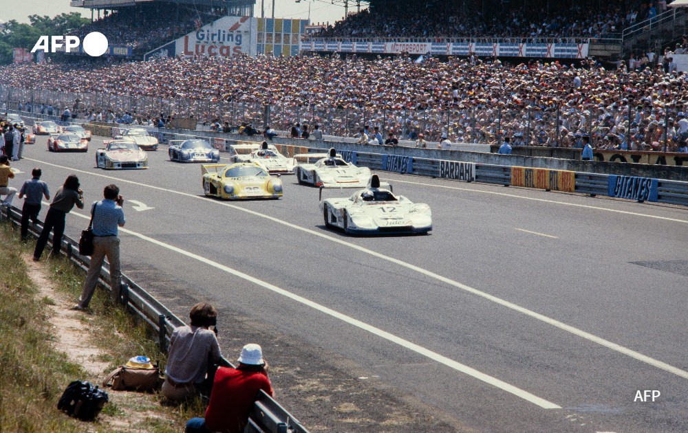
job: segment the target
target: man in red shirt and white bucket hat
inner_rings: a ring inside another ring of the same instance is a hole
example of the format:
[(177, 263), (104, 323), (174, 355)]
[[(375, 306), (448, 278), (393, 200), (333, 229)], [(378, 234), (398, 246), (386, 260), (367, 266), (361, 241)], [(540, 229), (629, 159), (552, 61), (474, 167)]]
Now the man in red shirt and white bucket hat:
[(272, 395), (268, 364), (261, 346), (246, 344), (241, 349), (237, 368), (217, 369), (206, 417), (190, 419), (186, 433), (243, 432), (259, 390)]

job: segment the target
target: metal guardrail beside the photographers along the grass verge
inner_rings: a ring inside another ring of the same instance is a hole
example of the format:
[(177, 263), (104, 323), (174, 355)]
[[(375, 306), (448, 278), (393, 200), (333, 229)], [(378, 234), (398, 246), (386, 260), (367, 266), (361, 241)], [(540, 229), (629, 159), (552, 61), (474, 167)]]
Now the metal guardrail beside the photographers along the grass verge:
[[(18, 208), (0, 208), (0, 221), (8, 219), (15, 225), (21, 224), (21, 210)], [(30, 233), (38, 237), (43, 230), (43, 223), (30, 224)], [(67, 235), (62, 238), (62, 250), (67, 258), (83, 270), (87, 270), (91, 258), (78, 254), (78, 242)], [(109, 290), (109, 270), (103, 266), (100, 269), (99, 282), (106, 290)], [(160, 350), (166, 352), (169, 337), (178, 326), (184, 326), (183, 320), (178, 318), (150, 293), (142, 289), (136, 282), (122, 273), (122, 304), (128, 311), (144, 320), (151, 328), (158, 332), (158, 344)], [(220, 365), (234, 367), (226, 358), (220, 359)], [(261, 391), (255, 407), (252, 409), (248, 432), (256, 433), (308, 433), (303, 425), (283, 408), (275, 399)]]

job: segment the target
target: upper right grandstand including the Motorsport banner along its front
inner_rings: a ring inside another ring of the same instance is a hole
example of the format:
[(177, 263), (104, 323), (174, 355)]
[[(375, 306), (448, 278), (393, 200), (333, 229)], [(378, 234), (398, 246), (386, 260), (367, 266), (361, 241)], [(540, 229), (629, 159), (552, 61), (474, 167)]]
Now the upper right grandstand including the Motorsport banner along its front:
[[(667, 1), (623, 0), (371, 0), (369, 8), (312, 34), (312, 52), (398, 54), (382, 43), (434, 43), (411, 54), (520, 56), (533, 58), (627, 57), (661, 52), (686, 32), (687, 18)], [(441, 47), (442, 43), (484, 43)], [(339, 43), (345, 43), (343, 46)], [(361, 43), (361, 47), (356, 47)], [(371, 43), (367, 47), (363, 43)], [(491, 44), (506, 44), (504, 52)], [(375, 45), (378, 44), (378, 45)], [(524, 52), (514, 44), (542, 46)], [(581, 49), (581, 44), (585, 45)], [(427, 52), (425, 49), (427, 48)], [(481, 51), (482, 48), (482, 51)], [(576, 51), (574, 51), (574, 49)]]

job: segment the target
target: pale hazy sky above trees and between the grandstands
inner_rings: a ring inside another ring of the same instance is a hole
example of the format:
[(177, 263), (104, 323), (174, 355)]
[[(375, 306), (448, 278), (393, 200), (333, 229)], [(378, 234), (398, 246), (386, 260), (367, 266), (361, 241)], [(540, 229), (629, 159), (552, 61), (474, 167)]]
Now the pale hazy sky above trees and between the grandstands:
[[(272, 1), (265, 1), (265, 15), (270, 18), (272, 14)], [(342, 19), (344, 7), (333, 5), (330, 0), (301, 0), (296, 3), (294, 0), (275, 0), (276, 18), (299, 18), (308, 19), (308, 6), (310, 3), (310, 21), (312, 23), (326, 23)], [(352, 1), (352, 4), (355, 4)], [(261, 0), (256, 0), (254, 16), (260, 16)], [(350, 11), (355, 10), (350, 6)], [(48, 15), (50, 17), (69, 12), (81, 12), (87, 18), (91, 17), (91, 10), (84, 8), (72, 8), (69, 0), (0, 0), (0, 21), (10, 21), (16, 19), (20, 23), (28, 23), (29, 15)]]

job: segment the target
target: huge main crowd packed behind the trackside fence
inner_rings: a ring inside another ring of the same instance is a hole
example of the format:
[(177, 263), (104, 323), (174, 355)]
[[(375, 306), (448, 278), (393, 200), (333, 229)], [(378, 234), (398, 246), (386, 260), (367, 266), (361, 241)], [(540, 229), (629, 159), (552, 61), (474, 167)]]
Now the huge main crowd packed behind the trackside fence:
[(116, 118), (131, 106), (94, 104), (136, 102), (133, 117), (152, 118), (158, 106), (140, 101), (164, 98), (176, 101), (172, 115), (232, 125), (261, 124), (256, 120), (269, 105), (270, 124), (281, 131), (301, 122), (326, 135), (357, 136), (377, 126), (399, 140), (423, 134), (439, 142), (444, 133), (453, 142), (510, 136), (514, 145), (541, 146), (580, 146), (587, 135), (596, 147), (678, 150), (688, 133), (686, 76), (653, 60), (629, 70), (625, 63), (502, 65), (475, 56), (424, 63), (404, 56), (180, 57), (100, 69), (11, 65), (0, 69), (0, 85), (69, 90), (83, 109), (114, 109)]

